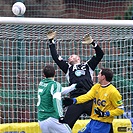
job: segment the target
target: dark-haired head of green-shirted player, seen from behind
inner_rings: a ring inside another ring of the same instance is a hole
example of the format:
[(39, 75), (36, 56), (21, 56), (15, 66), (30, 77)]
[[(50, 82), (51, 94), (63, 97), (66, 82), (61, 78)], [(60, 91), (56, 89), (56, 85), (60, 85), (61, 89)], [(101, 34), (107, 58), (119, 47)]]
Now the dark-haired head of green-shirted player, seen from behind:
[(54, 77), (55, 76), (55, 69), (52, 65), (47, 65), (43, 68), (43, 74), (46, 78)]

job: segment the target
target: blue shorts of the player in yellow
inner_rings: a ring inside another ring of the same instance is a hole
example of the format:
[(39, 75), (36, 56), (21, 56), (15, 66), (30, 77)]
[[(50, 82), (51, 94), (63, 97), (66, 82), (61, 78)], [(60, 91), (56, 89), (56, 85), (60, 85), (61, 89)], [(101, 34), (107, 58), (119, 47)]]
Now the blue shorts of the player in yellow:
[(109, 133), (111, 128), (110, 123), (91, 120), (83, 129), (78, 133)]

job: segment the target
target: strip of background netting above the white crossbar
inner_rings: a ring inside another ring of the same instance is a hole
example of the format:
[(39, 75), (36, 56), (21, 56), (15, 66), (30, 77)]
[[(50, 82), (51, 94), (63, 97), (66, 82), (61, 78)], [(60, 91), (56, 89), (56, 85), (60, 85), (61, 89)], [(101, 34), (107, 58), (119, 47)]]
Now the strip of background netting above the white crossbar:
[(132, 0), (1, 0), (0, 16), (14, 16), (12, 5), (21, 1), (25, 17), (132, 19)]

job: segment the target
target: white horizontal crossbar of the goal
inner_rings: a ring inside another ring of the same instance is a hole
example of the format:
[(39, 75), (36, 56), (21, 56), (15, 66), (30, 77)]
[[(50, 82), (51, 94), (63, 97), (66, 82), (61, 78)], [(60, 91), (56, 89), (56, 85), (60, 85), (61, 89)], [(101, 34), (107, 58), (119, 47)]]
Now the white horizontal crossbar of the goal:
[(1, 24), (133, 26), (132, 20), (0, 17)]

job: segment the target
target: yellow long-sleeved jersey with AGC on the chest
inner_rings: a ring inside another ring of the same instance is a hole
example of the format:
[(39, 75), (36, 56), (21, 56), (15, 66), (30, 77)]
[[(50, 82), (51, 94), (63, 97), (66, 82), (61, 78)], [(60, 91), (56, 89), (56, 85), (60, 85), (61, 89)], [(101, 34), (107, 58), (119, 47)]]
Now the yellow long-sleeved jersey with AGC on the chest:
[[(122, 96), (112, 84), (104, 87), (99, 83), (95, 84), (88, 93), (76, 98), (76, 104), (84, 103), (91, 99), (94, 99), (91, 113), (91, 119), (93, 120), (112, 123), (114, 116), (122, 115), (124, 112)], [(94, 108), (97, 107), (103, 112), (109, 111), (110, 116), (98, 117), (94, 112)]]

